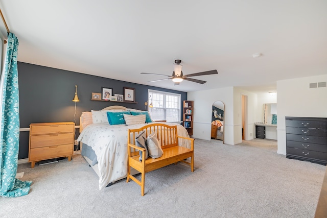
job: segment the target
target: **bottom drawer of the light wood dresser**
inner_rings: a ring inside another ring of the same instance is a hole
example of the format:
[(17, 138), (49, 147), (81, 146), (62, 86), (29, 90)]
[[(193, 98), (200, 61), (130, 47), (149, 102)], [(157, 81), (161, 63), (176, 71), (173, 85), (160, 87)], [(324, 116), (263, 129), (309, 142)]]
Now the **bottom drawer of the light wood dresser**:
[(49, 146), (31, 149), (30, 161), (52, 159), (61, 156), (73, 155), (73, 145)]

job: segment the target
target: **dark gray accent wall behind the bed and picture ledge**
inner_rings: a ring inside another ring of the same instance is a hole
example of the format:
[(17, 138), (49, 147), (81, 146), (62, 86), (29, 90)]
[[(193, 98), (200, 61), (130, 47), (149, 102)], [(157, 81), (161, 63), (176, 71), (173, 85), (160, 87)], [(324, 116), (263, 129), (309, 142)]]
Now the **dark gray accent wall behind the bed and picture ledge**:
[[(147, 86), (120, 80), (81, 74), (51, 67), (18, 62), (20, 128), (31, 123), (75, 122), (75, 85), (80, 102), (76, 104), (76, 125), (84, 111), (101, 110), (111, 105), (145, 110), (148, 89), (181, 94), (181, 103), (187, 93)], [(135, 88), (138, 104), (91, 101), (91, 92), (101, 92), (101, 87), (112, 88), (112, 94), (123, 94), (123, 87)], [(181, 116), (182, 117), (182, 116)], [(78, 134), (78, 131), (76, 131)], [(29, 132), (20, 132), (18, 159), (28, 158)]]

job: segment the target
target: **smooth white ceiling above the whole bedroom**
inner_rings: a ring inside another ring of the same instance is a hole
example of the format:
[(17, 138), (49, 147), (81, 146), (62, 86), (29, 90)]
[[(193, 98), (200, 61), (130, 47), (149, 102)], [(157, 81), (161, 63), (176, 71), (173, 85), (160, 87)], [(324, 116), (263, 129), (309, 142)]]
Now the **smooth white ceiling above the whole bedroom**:
[[(325, 0), (0, 0), (18, 61), (180, 91), (242, 87), (327, 73)], [(3, 23), (0, 30), (7, 35)], [(263, 53), (253, 58), (254, 53)], [(183, 74), (218, 70), (174, 86)]]

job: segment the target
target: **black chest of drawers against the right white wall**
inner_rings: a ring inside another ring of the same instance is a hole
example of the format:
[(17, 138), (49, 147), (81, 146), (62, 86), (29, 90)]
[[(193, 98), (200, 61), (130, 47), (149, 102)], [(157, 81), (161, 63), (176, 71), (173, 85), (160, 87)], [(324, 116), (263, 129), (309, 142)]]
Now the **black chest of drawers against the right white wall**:
[(327, 164), (327, 118), (286, 117), (286, 157)]

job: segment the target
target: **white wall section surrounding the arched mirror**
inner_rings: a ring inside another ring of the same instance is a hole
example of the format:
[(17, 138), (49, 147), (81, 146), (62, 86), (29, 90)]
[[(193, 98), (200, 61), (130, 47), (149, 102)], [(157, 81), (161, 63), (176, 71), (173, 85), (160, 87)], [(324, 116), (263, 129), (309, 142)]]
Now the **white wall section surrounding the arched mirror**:
[(225, 104), (224, 143), (241, 143), (242, 94), (248, 96), (248, 132), (246, 137), (247, 140), (252, 139), (254, 133), (254, 117), (257, 108), (257, 96), (254, 93), (234, 87), (188, 92), (188, 100), (194, 101), (192, 137), (205, 140), (211, 139), (212, 105), (216, 101), (222, 101)]

